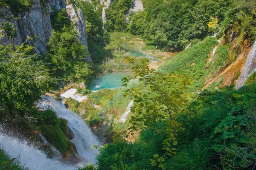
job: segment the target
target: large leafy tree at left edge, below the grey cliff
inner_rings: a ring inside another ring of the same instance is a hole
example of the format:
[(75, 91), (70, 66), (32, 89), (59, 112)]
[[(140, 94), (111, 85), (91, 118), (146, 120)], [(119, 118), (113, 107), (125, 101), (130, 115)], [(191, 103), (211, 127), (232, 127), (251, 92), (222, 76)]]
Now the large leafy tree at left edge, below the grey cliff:
[(37, 55), (31, 54), (33, 47), (0, 44), (0, 109), (6, 105), (26, 109), (49, 90), (52, 77)]

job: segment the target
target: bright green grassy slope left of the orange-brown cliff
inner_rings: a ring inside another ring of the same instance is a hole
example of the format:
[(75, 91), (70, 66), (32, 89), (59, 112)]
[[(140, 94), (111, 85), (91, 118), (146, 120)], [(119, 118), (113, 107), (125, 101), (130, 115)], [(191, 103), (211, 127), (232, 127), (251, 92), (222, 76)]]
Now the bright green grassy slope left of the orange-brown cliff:
[(204, 85), (207, 71), (205, 69), (207, 57), (218, 42), (213, 37), (206, 37), (203, 42), (196, 43), (188, 50), (182, 51), (169, 62), (161, 65), (158, 71), (165, 73), (179, 73), (190, 77), (192, 85), (188, 86), (188, 95), (195, 98)]

